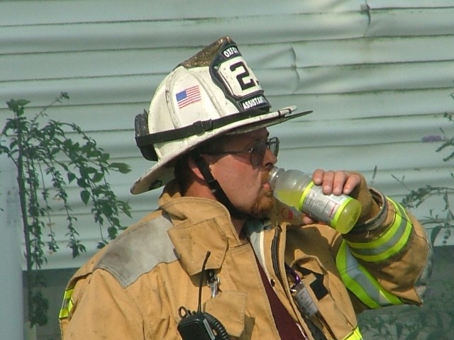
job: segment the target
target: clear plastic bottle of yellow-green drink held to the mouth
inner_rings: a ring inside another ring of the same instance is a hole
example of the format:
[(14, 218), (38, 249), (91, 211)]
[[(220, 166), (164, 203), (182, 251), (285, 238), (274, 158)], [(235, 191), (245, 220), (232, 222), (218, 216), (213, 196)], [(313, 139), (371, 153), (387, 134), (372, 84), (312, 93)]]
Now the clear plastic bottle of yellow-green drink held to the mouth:
[(274, 167), (270, 171), (270, 186), (278, 200), (297, 210), (326, 222), (341, 234), (355, 226), (361, 213), (358, 200), (346, 195), (324, 195), (321, 186), (314, 185), (311, 178), (299, 170)]

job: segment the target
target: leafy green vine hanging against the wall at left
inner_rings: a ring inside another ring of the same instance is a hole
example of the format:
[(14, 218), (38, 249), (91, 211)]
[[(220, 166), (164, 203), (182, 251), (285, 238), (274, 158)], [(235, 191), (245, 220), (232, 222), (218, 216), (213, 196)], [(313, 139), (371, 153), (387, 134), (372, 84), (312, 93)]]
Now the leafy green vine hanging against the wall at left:
[[(98, 248), (125, 229), (119, 219), (121, 214), (131, 217), (128, 203), (117, 198), (107, 181), (111, 171), (127, 174), (131, 171), (130, 167), (110, 162), (110, 155), (78, 125), (49, 120), (45, 111), (61, 103), (62, 99), (69, 99), (68, 94), (62, 92), (33, 118), (25, 114), (29, 101), (11, 99), (6, 104), (13, 112), (13, 118), (6, 120), (0, 134), (0, 154), (6, 154), (17, 170), (31, 327), (48, 322), (49, 303), (43, 295), (45, 280), (42, 269), (48, 261), (45, 251), (54, 253), (59, 249), (52, 223), (55, 208), (62, 210), (66, 216), (67, 246), (72, 256), (86, 251), (79, 240), (75, 224), (77, 217), (70, 206), (68, 186), (76, 183), (80, 199), (85, 206), (91, 207), (94, 222), (100, 230)], [(42, 120), (45, 123), (40, 123)], [(78, 140), (68, 137), (70, 135)], [(60, 203), (61, 206), (55, 207)]]

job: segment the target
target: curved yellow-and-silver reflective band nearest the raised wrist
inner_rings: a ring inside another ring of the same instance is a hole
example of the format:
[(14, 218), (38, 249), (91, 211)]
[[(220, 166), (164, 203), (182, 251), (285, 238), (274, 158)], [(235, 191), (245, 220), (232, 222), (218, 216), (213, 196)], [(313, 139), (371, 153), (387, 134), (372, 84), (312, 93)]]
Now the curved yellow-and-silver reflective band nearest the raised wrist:
[(389, 200), (395, 208), (392, 225), (380, 237), (370, 242), (347, 241), (352, 253), (367, 262), (380, 262), (399, 253), (409, 240), (412, 225), (404, 208)]

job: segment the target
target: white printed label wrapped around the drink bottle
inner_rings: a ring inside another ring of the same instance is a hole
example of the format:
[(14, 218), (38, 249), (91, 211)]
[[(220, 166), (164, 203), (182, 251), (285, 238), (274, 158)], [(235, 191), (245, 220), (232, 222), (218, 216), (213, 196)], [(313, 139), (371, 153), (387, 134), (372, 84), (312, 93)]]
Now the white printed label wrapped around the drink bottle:
[(316, 220), (326, 222), (336, 228), (337, 220), (343, 207), (351, 200), (345, 195), (324, 195), (321, 186), (315, 186), (314, 182), (309, 183), (303, 191), (299, 200), (299, 210)]

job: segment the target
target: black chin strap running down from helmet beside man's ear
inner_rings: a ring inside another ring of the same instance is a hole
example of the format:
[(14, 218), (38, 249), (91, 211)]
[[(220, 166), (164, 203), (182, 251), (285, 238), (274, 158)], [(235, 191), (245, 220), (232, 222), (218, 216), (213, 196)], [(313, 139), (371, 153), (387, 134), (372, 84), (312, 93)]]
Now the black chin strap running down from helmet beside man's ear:
[(199, 171), (201, 172), (202, 176), (204, 176), (206, 183), (211, 189), (211, 193), (213, 193), (214, 197), (216, 197), (218, 202), (223, 204), (227, 208), (232, 217), (238, 219), (247, 218), (248, 215), (245, 214), (245, 212), (242, 212), (238, 208), (236, 208), (228, 199), (226, 193), (223, 191), (223, 188), (221, 188), (219, 182), (216, 181), (216, 179), (213, 177), (213, 174), (211, 174), (209, 166), (208, 164), (206, 164), (204, 157), (201, 157), (199, 149), (195, 149), (192, 152), (191, 157), (194, 159), (197, 168), (199, 168)]

